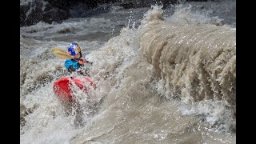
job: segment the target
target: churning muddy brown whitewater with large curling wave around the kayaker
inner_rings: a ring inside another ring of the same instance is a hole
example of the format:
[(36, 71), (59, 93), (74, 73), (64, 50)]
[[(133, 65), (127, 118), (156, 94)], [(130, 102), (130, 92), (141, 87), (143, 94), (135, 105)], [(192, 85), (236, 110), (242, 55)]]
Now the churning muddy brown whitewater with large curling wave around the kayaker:
[[(235, 143), (236, 28), (189, 7), (165, 16), (162, 6), (152, 6), (139, 26), (123, 27), (107, 41), (106, 35), (82, 39), (97, 31), (86, 26), (112, 23), (105, 18), (22, 28), (21, 143)], [(94, 62), (88, 66), (97, 86), (91, 102), (102, 102), (88, 114), (91, 104), (78, 91), (82, 126), (75, 125), (77, 107), (66, 114), (52, 89), (68, 75), (64, 59), (50, 53), (51, 47), (66, 49), (72, 36), (55, 33), (66, 29), (78, 33), (75, 42)]]

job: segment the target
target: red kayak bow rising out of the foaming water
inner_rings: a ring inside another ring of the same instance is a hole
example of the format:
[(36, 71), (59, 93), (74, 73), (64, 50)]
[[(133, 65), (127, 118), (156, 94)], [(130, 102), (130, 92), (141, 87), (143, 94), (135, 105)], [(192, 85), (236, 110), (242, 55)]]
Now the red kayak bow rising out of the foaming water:
[(54, 94), (61, 98), (64, 101), (74, 101), (74, 95), (71, 86), (76, 85), (80, 90), (85, 90), (86, 93), (90, 89), (96, 89), (94, 83), (89, 77), (85, 78), (70, 78), (63, 77), (54, 82)]

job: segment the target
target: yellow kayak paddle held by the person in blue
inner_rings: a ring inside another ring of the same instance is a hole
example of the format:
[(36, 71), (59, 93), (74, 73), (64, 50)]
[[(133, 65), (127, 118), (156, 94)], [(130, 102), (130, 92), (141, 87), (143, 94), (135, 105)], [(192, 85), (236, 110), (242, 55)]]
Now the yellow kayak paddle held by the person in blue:
[[(51, 49), (51, 52), (58, 58), (62, 59), (74, 59), (74, 56), (70, 55), (69, 52), (63, 50), (62, 48), (54, 47)], [(77, 59), (74, 59), (78, 61)], [(80, 60), (80, 59), (79, 59)], [(86, 61), (87, 63), (93, 64), (93, 62)]]

